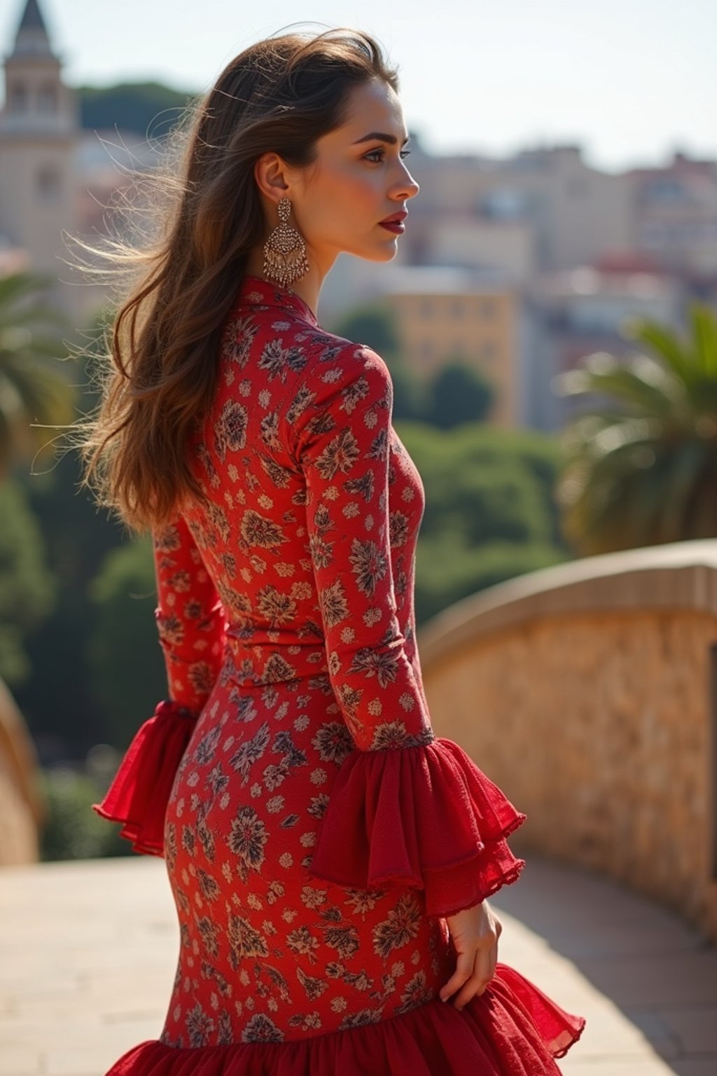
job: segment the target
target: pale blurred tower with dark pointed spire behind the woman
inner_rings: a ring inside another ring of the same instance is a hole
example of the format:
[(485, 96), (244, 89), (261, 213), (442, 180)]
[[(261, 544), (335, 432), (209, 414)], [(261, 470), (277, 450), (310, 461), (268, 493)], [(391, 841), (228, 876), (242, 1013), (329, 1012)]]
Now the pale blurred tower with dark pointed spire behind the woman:
[[(55, 281), (70, 312), (72, 278), (61, 230), (74, 233), (77, 110), (63, 85), (38, 0), (26, 0), (13, 52), (5, 58), (0, 112), (0, 241), (27, 251), (30, 269)], [(74, 289), (76, 291), (76, 289)]]

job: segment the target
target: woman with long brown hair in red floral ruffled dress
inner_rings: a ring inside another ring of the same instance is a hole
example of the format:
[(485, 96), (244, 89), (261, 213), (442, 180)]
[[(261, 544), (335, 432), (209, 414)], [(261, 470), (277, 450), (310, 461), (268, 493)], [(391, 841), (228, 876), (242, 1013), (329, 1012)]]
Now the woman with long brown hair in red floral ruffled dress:
[(397, 86), (355, 31), (238, 56), (118, 312), (86, 480), (152, 529), (170, 698), (97, 810), (166, 856), (181, 948), (113, 1074), (537, 1076), (583, 1029), (497, 961), (526, 816), (433, 734), (420, 477), (386, 365), (316, 315), (418, 194)]

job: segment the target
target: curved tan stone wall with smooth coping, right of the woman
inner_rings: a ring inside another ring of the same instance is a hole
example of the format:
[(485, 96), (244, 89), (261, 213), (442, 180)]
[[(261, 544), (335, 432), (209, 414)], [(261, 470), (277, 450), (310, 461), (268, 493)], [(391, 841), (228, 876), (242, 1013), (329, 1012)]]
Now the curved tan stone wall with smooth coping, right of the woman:
[(533, 572), (418, 642), (436, 735), (528, 815), (517, 854), (605, 872), (717, 939), (717, 541)]

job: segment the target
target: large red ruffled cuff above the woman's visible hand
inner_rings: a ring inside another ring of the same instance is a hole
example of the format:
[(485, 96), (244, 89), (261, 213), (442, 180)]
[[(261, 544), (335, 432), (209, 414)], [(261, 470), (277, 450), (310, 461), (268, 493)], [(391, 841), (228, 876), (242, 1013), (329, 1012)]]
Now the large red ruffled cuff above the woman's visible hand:
[(517, 880), (526, 861), (505, 837), (526, 818), (453, 740), (353, 751), (309, 869), (357, 889), (420, 889), (426, 915), (450, 916)]

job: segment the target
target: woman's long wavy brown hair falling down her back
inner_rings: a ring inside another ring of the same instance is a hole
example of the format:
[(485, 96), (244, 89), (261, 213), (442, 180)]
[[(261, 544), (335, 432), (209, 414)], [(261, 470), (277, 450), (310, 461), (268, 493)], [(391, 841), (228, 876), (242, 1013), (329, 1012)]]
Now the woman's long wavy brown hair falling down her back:
[(275, 152), (311, 165), (352, 89), (373, 79), (398, 88), (377, 42), (356, 30), (252, 45), (180, 125), (180, 167), (152, 181), (161, 196), (152, 241), (105, 252), (118, 273), (129, 268), (131, 286), (105, 335), (101, 402), (78, 424), (77, 447), (82, 484), (130, 528), (161, 526), (186, 498), (205, 499), (185, 444), (211, 406), (223, 326), (264, 235), (256, 160)]

